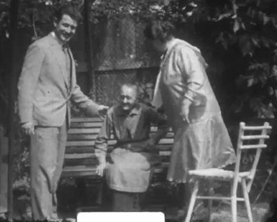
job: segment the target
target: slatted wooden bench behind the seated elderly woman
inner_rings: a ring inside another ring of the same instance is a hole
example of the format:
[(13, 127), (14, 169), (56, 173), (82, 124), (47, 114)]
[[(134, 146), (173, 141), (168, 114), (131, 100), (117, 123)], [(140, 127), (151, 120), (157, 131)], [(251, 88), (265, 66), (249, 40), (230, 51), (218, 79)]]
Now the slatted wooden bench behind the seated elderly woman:
[[(100, 178), (96, 174), (98, 160), (94, 154), (94, 142), (100, 131), (102, 120), (100, 118), (73, 118), (71, 129), (69, 129), (68, 140), (66, 142), (66, 154), (64, 160), (64, 169), (62, 177), (73, 178)], [(151, 127), (151, 133), (154, 133), (157, 127)], [(173, 142), (173, 132), (169, 131), (157, 145), (162, 163), (154, 169), (153, 181), (166, 178), (170, 154)], [(113, 136), (108, 140), (108, 151), (113, 148), (116, 140)]]

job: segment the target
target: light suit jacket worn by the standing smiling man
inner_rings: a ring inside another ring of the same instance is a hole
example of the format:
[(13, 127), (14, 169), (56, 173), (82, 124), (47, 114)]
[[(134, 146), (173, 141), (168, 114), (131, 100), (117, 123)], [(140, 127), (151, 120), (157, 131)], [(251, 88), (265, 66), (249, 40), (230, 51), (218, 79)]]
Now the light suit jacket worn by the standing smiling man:
[(71, 73), (66, 68), (62, 46), (51, 33), (29, 46), (18, 82), (21, 122), (60, 127), (64, 124), (66, 111), (70, 120), (70, 100), (83, 109), (97, 113), (98, 104), (89, 100), (76, 84), (75, 64), (70, 50), (69, 54)]

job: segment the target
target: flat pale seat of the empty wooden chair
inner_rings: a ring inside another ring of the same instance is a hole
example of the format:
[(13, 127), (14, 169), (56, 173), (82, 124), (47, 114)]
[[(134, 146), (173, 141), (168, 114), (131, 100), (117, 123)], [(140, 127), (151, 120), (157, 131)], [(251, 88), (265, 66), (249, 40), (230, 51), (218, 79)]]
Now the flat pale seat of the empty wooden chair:
[[(194, 169), (190, 170), (188, 174), (197, 178), (210, 178), (220, 181), (233, 180), (234, 172), (224, 169), (209, 168), (209, 169)], [(240, 172), (239, 181), (241, 178), (249, 178), (250, 172)]]

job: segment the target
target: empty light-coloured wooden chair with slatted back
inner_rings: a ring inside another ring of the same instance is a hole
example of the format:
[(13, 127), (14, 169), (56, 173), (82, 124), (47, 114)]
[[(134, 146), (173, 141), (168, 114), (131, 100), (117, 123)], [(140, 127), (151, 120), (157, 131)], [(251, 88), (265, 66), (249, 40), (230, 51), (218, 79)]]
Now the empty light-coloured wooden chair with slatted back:
[[(219, 201), (231, 201), (231, 215), (232, 222), (237, 221), (237, 201), (244, 201), (247, 208), (247, 216), (250, 222), (253, 222), (251, 205), (249, 201), (249, 192), (251, 190), (251, 185), (253, 183), (253, 178), (256, 173), (256, 168), (260, 158), (262, 149), (266, 148), (265, 139), (268, 139), (268, 131), (271, 129), (268, 122), (265, 122), (262, 126), (246, 126), (244, 122), (240, 122), (240, 129), (238, 134), (238, 144), (237, 144), (237, 157), (235, 163), (234, 171), (225, 169), (195, 169), (190, 170), (188, 174), (191, 176), (193, 185), (193, 192), (190, 198), (190, 205), (188, 206), (188, 212), (185, 222), (189, 222), (193, 214), (193, 207), (195, 205), (196, 199), (206, 199), (208, 200), (208, 212), (209, 221), (211, 221), (211, 210), (213, 205), (213, 200)], [(247, 151), (249, 149), (256, 149), (256, 156), (253, 160), (253, 164), (250, 170), (240, 172), (240, 163), (242, 158), (242, 151)], [(208, 183), (212, 181), (229, 181), (231, 183), (231, 192), (229, 196), (215, 196), (213, 194), (211, 187), (208, 189), (208, 195), (199, 196), (199, 182), (200, 180), (206, 180)], [(243, 197), (238, 197), (238, 185), (242, 187)]]

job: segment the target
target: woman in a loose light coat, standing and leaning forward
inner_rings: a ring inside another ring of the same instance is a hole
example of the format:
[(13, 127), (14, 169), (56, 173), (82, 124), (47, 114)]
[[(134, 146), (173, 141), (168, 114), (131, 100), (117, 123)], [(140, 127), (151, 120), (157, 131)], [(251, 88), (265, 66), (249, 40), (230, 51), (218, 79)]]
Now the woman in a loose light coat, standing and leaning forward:
[(152, 21), (144, 34), (162, 54), (152, 103), (163, 105), (175, 132), (168, 181), (188, 187), (188, 170), (224, 167), (235, 162), (235, 153), (200, 50), (173, 30), (168, 21)]

